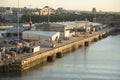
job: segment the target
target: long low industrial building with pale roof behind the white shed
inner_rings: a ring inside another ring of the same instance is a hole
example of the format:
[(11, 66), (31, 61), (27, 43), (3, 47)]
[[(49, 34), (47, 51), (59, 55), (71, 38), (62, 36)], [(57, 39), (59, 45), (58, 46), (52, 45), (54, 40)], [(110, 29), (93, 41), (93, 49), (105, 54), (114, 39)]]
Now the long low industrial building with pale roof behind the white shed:
[[(57, 31), (60, 32), (60, 37), (70, 37), (75, 33), (90, 30), (90, 22), (88, 21), (73, 21), (73, 22), (56, 22), (35, 24), (38, 31)], [(89, 30), (88, 30), (89, 29)], [(66, 36), (67, 35), (67, 36)]]

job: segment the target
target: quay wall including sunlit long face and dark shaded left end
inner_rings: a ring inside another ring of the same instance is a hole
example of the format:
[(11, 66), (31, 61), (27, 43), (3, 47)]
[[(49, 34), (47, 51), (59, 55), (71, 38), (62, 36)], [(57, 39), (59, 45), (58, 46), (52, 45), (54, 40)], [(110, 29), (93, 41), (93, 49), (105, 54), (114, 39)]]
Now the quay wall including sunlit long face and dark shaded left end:
[(61, 58), (65, 53), (74, 51), (83, 46), (89, 46), (92, 42), (96, 42), (105, 38), (108, 32), (100, 32), (96, 35), (88, 36), (75, 42), (71, 42), (51, 50), (39, 53), (21, 60), (18, 63), (0, 66), (0, 72), (24, 71), (38, 64), (52, 62), (56, 58)]

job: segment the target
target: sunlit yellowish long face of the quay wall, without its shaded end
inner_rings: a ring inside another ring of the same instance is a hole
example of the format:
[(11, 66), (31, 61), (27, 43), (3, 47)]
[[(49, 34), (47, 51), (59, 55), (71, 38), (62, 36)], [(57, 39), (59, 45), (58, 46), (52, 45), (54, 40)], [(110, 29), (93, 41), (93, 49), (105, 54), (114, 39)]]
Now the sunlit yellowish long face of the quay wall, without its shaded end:
[(63, 56), (65, 53), (74, 51), (82, 46), (89, 46), (92, 42), (98, 41), (101, 38), (106, 37), (106, 34), (107, 32), (102, 32), (97, 35), (93, 35), (91, 37), (87, 37), (79, 41), (69, 43), (67, 45), (56, 47), (51, 50), (45, 51), (43, 53), (37, 54), (35, 56), (26, 58), (21, 61), (20, 70), (23, 71), (37, 64), (44, 64), (46, 62), (49, 62), (49, 59), (51, 59), (50, 61), (52, 62), (57, 57), (58, 53)]

